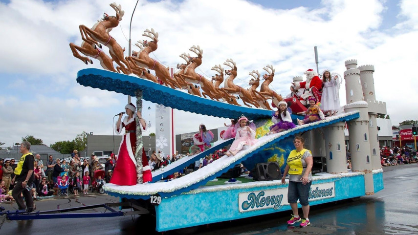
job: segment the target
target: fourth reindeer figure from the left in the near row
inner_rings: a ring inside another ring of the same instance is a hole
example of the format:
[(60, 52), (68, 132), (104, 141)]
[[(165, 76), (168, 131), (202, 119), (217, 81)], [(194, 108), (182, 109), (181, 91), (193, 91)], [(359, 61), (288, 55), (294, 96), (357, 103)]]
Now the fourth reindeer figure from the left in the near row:
[(235, 64), (235, 62), (232, 59), (227, 59), (226, 62), (223, 64), (225, 64), (228, 67), (231, 67), (232, 69), (225, 70), (225, 73), (229, 76), (226, 78), (223, 88), (220, 89), (227, 94), (239, 95), (242, 99), (242, 102), (247, 107), (251, 107), (248, 104), (251, 104), (255, 107), (260, 107), (257, 101), (255, 101), (251, 96), (251, 92), (249, 90), (234, 84), (234, 79), (237, 77), (237, 65)]

